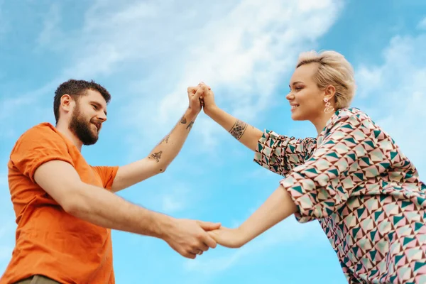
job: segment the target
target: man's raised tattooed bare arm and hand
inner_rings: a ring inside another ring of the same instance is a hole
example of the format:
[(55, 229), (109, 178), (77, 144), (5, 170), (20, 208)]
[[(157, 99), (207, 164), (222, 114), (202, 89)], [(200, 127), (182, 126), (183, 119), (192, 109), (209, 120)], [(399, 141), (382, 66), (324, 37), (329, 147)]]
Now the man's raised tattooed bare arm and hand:
[(119, 168), (111, 187), (113, 192), (151, 178), (158, 173), (164, 173), (168, 165), (176, 158), (201, 111), (200, 96), (207, 92), (207, 87), (189, 87), (187, 92), (190, 106), (178, 121), (178, 124), (153, 148), (146, 158)]

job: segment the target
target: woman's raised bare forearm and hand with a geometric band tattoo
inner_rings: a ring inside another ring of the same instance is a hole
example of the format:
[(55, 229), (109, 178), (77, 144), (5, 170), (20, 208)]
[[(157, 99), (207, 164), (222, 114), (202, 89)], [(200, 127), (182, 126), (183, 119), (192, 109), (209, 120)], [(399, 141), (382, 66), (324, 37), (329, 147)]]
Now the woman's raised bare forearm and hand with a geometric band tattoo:
[(246, 122), (236, 119), (226, 111), (219, 109), (214, 102), (214, 93), (209, 90), (204, 94), (204, 113), (228, 131), (236, 140), (240, 141), (251, 151), (256, 151), (258, 140), (263, 132), (256, 127), (249, 126)]

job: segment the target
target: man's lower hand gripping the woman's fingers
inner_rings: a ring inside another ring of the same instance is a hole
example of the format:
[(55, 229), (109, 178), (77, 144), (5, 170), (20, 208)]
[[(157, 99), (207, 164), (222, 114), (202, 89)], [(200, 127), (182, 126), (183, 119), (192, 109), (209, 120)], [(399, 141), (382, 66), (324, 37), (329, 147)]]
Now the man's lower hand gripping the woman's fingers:
[(190, 219), (174, 219), (166, 228), (162, 239), (186, 258), (195, 258), (203, 251), (216, 247), (216, 241), (207, 231), (219, 229), (220, 223), (202, 222)]

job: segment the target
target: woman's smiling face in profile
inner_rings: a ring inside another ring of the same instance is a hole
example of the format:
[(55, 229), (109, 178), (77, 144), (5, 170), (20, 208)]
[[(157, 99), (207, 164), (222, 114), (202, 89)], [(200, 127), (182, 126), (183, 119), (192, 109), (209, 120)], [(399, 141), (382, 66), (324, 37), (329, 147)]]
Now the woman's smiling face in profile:
[(313, 79), (317, 68), (317, 63), (302, 65), (290, 79), (290, 93), (285, 98), (290, 102), (293, 120), (316, 121), (324, 115), (325, 91), (319, 89)]

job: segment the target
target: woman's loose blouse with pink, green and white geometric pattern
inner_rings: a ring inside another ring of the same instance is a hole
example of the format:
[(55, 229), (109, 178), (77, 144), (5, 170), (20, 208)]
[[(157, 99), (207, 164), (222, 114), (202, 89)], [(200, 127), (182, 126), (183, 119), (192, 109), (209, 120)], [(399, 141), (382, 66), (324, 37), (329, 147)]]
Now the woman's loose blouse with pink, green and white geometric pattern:
[(317, 138), (266, 130), (254, 160), (285, 177), (298, 222), (318, 219), (349, 283), (426, 283), (426, 185), (362, 111), (339, 109)]

